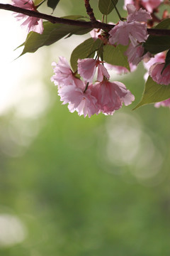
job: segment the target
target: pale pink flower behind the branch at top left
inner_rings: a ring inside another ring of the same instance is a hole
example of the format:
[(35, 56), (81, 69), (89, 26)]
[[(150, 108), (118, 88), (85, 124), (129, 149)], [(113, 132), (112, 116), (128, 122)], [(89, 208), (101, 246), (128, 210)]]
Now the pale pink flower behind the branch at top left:
[[(31, 11), (37, 11), (34, 3), (32, 0), (12, 0), (13, 6), (21, 7), (23, 9), (31, 10)], [(26, 26), (28, 33), (30, 31), (34, 31), (37, 33), (42, 34), (43, 33), (43, 25), (42, 25), (42, 18), (36, 18), (27, 16), (25, 14), (16, 14), (14, 13), (14, 16), (17, 18), (18, 21), (24, 20), (23, 23), (21, 23), (21, 26)]]

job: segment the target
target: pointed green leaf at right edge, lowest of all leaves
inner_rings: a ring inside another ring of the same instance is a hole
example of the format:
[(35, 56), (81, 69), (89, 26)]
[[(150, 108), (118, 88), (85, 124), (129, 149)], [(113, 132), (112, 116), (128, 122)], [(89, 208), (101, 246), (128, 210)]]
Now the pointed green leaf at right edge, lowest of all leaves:
[(158, 85), (157, 82), (154, 82), (154, 80), (149, 77), (145, 84), (145, 90), (142, 95), (142, 100), (140, 101), (140, 103), (137, 104), (134, 110), (143, 105), (161, 102), (162, 100), (167, 100), (169, 98), (170, 85)]

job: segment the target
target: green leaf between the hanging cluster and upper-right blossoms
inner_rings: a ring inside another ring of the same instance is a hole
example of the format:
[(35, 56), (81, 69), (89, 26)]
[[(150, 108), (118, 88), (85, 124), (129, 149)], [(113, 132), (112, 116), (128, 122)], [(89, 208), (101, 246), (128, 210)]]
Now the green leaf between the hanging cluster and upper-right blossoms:
[(128, 57), (125, 55), (125, 50), (127, 46), (103, 46), (103, 60), (112, 65), (119, 65), (130, 70), (128, 63)]

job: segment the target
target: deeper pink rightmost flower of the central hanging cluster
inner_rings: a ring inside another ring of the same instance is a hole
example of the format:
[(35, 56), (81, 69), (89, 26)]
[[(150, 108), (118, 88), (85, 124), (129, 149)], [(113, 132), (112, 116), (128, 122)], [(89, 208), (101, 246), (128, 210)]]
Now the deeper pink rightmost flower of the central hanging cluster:
[(103, 80), (91, 87), (91, 94), (96, 97), (103, 114), (113, 114), (123, 103), (127, 106), (135, 100), (134, 95), (126, 89), (122, 82)]

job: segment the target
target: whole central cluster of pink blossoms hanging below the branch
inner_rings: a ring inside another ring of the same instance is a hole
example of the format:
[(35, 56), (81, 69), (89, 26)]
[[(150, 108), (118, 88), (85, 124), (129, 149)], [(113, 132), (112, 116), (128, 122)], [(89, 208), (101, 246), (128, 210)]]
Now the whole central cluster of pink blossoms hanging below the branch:
[[(134, 95), (122, 82), (110, 82), (110, 75), (100, 60), (87, 58), (78, 60), (78, 73), (83, 80), (75, 77), (67, 60), (60, 57), (59, 63), (52, 63), (55, 75), (51, 80), (58, 86), (63, 104), (68, 103), (70, 112), (77, 111), (84, 117), (92, 114), (113, 114), (123, 103), (127, 106), (135, 100)], [(98, 69), (97, 81), (93, 83)]]

